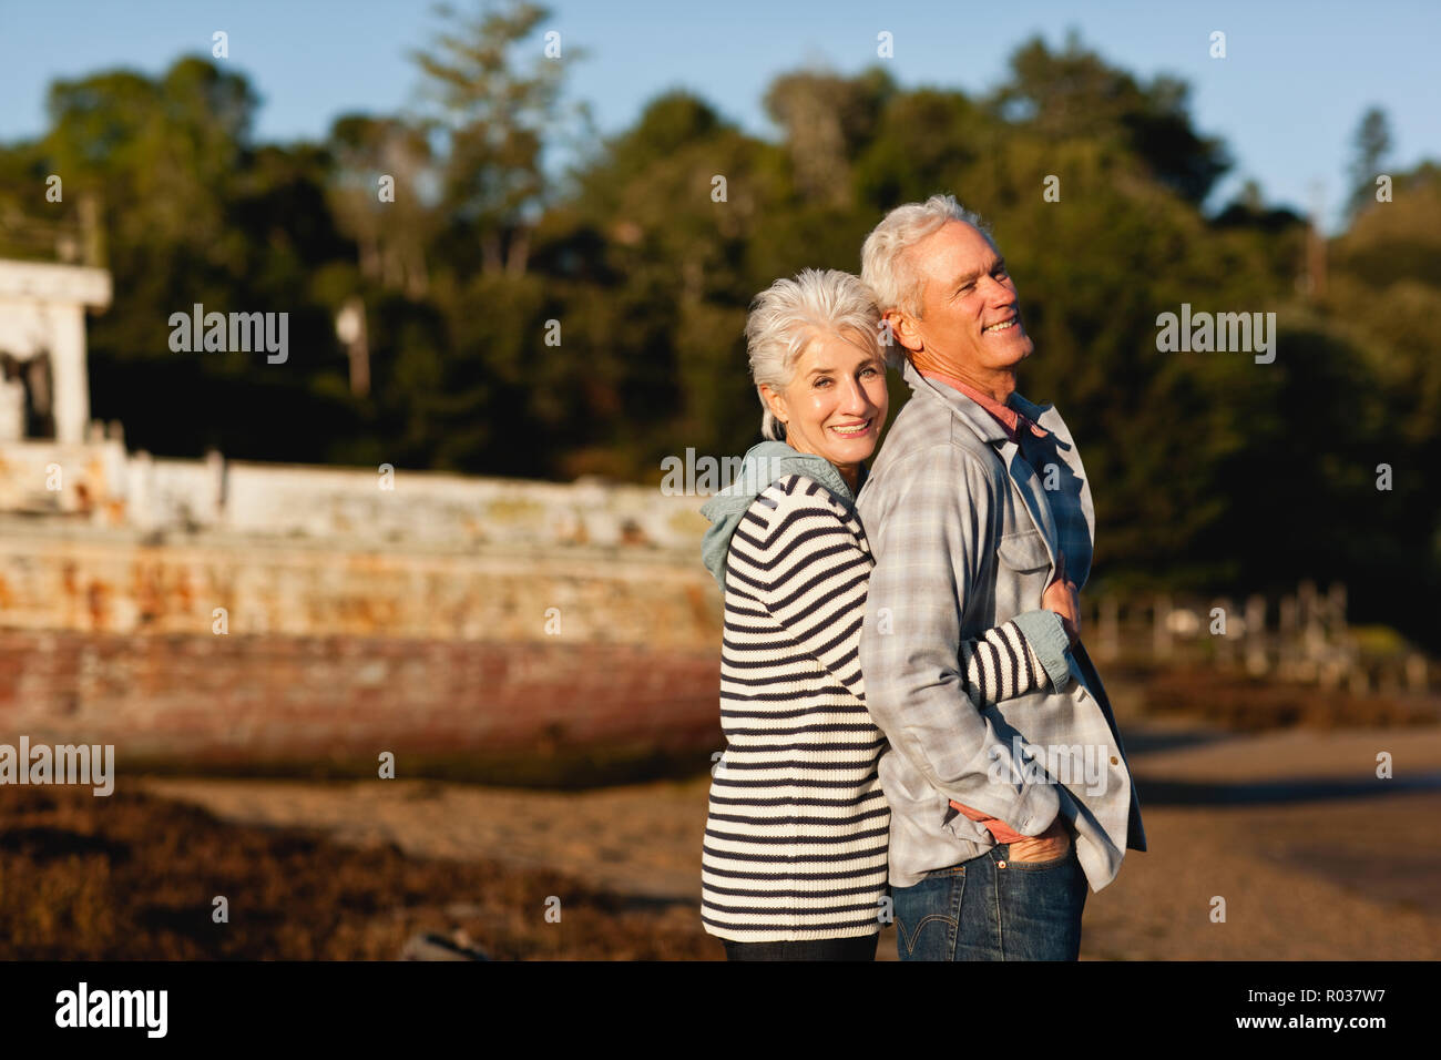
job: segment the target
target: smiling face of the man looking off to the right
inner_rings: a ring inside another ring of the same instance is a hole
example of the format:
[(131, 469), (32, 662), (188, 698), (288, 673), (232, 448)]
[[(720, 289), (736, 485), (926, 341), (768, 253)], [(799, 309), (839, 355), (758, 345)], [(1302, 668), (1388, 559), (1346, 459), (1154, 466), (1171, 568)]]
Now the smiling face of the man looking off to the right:
[(973, 225), (950, 221), (908, 254), (921, 278), (921, 319), (893, 323), (918, 363), (983, 378), (1014, 368), (1035, 343), (1020, 320), (1016, 284), (990, 241)]

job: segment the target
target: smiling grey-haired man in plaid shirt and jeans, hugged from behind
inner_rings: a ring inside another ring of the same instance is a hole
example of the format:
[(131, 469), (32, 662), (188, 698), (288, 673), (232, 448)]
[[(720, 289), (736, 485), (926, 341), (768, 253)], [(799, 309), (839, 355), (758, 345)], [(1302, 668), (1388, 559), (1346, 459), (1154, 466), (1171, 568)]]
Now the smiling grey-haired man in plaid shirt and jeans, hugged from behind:
[[(876, 561), (860, 666), (891, 743), (879, 773), (901, 959), (1075, 960), (1087, 884), (1146, 849), (1078, 639), (1091, 487), (1061, 415), (1016, 392), (1033, 343), (974, 213), (951, 196), (899, 206), (862, 261), (912, 392), (859, 496)], [(1066, 601), (1033, 636), (1049, 682), (977, 711), (961, 640), (1043, 597)]]

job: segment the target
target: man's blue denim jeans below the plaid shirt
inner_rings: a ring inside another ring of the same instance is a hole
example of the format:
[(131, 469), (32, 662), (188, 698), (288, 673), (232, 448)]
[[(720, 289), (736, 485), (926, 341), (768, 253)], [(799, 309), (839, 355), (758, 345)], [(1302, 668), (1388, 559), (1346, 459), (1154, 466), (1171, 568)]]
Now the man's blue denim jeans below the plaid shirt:
[(893, 887), (902, 960), (1075, 960), (1088, 884), (1071, 848), (1053, 861), (1012, 861), (1009, 844), (914, 887)]

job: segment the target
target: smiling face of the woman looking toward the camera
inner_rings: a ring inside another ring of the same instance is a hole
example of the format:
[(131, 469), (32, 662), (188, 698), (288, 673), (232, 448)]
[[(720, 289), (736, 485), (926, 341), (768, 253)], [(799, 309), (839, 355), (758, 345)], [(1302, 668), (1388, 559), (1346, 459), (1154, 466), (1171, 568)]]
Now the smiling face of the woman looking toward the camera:
[(761, 394), (785, 424), (791, 449), (843, 470), (855, 470), (876, 451), (886, 423), (886, 365), (870, 336), (817, 333), (785, 389), (762, 387)]

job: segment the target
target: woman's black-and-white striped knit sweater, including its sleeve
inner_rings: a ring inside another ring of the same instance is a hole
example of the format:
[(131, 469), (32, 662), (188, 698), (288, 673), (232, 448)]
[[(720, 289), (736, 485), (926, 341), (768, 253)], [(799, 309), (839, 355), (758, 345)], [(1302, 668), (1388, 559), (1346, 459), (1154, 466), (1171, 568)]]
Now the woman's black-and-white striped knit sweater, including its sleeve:
[[(866, 712), (860, 623), (870, 547), (855, 509), (790, 474), (751, 503), (726, 557), (720, 725), (702, 847), (702, 922), (733, 942), (880, 930), (891, 811)], [(1045, 669), (1014, 620), (960, 646), (976, 701)]]

